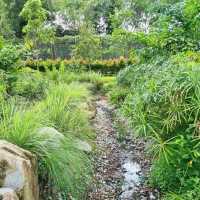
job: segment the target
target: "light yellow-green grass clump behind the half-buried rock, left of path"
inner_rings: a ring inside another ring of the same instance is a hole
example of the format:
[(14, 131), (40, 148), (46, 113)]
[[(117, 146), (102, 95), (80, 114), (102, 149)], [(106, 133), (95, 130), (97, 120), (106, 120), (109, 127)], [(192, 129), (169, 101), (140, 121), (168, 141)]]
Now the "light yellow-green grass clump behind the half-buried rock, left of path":
[(47, 98), (38, 105), (42, 112), (48, 113), (56, 129), (65, 135), (81, 138), (93, 136), (86, 111), (87, 101), (90, 101), (86, 86), (77, 82), (53, 85)]

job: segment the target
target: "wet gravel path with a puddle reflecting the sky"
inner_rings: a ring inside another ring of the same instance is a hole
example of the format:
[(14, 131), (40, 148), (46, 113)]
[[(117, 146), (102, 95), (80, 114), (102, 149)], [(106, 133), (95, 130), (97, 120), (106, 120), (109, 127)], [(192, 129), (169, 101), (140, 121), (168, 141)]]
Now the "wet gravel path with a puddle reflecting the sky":
[(126, 136), (120, 143), (113, 125), (114, 112), (105, 98), (96, 101), (95, 177), (88, 200), (159, 199), (157, 191), (144, 186), (144, 175), (150, 168), (144, 157), (145, 142)]

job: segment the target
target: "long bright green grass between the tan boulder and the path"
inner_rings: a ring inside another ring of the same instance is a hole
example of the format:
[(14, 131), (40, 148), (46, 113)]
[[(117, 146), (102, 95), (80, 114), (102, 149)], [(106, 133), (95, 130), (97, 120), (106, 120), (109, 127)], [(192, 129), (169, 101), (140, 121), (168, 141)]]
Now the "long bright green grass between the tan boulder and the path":
[[(44, 199), (52, 196), (52, 191), (54, 199), (58, 194), (63, 199), (85, 199), (92, 168), (89, 155), (77, 149), (75, 141), (93, 137), (88, 114), (83, 112), (89, 96), (86, 87), (78, 83), (52, 84), (46, 98), (36, 105), (17, 106), (14, 98), (0, 105), (0, 139), (37, 156)], [(49, 194), (46, 187), (51, 187)]]

